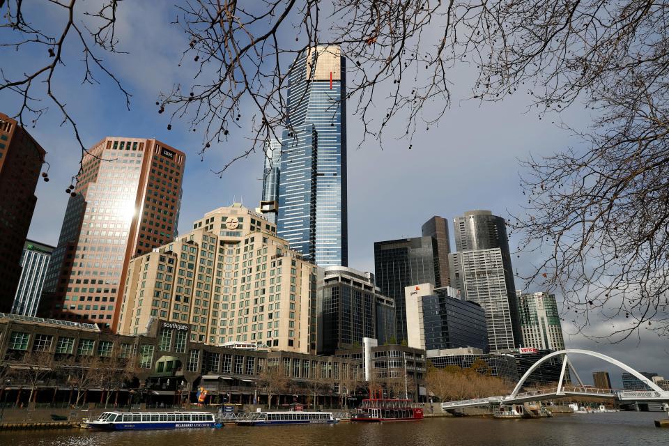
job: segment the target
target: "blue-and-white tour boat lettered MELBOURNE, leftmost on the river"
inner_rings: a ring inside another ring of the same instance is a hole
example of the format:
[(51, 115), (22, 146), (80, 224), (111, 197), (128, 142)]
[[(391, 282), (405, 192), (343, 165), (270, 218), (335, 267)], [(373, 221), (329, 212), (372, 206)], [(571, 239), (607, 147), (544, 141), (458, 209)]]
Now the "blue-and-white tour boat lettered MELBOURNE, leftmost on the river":
[(220, 427), (208, 412), (104, 412), (97, 420), (86, 422), (91, 429), (106, 431), (141, 431), (148, 429), (194, 429)]

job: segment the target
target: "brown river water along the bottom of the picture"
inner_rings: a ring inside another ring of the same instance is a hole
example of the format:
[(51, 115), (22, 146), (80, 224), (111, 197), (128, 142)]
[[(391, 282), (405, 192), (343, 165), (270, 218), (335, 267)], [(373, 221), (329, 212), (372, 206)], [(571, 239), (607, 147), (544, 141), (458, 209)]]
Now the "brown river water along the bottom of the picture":
[(556, 415), (543, 420), (436, 418), (422, 422), (226, 426), (190, 431), (6, 431), (0, 446), (619, 446), (669, 445), (663, 413)]

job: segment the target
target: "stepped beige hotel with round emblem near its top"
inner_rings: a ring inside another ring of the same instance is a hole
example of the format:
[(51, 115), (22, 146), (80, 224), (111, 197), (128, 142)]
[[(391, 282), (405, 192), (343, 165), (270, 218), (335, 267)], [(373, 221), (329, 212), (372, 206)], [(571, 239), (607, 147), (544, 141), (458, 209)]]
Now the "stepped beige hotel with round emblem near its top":
[(190, 324), (191, 341), (249, 343), (314, 353), (316, 270), (277, 237), (275, 224), (238, 203), (128, 266), (118, 332), (155, 319)]

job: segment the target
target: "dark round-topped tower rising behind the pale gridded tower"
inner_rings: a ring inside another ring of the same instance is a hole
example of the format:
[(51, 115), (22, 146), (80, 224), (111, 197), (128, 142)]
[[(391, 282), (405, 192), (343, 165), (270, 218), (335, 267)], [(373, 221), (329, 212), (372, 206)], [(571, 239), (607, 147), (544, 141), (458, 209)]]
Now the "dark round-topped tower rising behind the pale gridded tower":
[[(509, 251), (509, 239), (507, 237), (507, 224), (502, 217), (493, 215), (489, 210), (470, 210), (459, 217), (453, 219), (453, 226), (455, 231), (455, 246), (458, 253), (483, 251), (488, 249), (500, 249), (502, 257), (502, 268), (504, 270), (504, 282), (507, 289), (507, 300), (509, 307), (509, 316), (511, 320), (508, 323), (511, 325), (515, 346), (517, 347), (523, 339), (521, 331), (521, 318), (518, 312), (518, 301), (516, 299), (516, 290), (514, 284), (514, 272), (511, 263), (511, 252)], [(483, 256), (478, 256), (483, 258)], [(455, 286), (460, 291), (466, 293), (461, 287), (462, 277), (457, 275), (465, 274), (472, 276), (473, 270), (467, 270), (466, 265), (462, 271), (454, 272), (454, 266), (449, 268), (451, 275), (451, 286)], [(456, 266), (457, 268), (457, 266)], [(467, 296), (470, 299), (470, 296)], [(479, 302), (485, 308), (482, 302)], [(489, 324), (490, 329), (490, 324)], [(493, 339), (491, 341), (491, 350), (493, 350)]]

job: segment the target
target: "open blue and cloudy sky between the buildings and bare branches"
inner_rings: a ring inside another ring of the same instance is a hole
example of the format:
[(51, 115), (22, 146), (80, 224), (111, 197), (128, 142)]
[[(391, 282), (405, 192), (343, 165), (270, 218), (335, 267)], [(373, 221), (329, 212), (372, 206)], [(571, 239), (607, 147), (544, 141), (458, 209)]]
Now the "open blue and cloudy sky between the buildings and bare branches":
[[(125, 4), (128, 3), (128, 4)], [(263, 158), (254, 153), (233, 164), (222, 178), (212, 173), (230, 157), (247, 148), (243, 132), (233, 132), (225, 144), (213, 144), (204, 157), (197, 154), (203, 134), (189, 132), (187, 123), (175, 121), (167, 130), (169, 116), (158, 114), (155, 101), (161, 91), (169, 91), (177, 82), (190, 82), (192, 66), (179, 68), (181, 51), (187, 46), (182, 31), (169, 22), (174, 19), (171, 3), (123, 2), (119, 8), (118, 36), (121, 49), (130, 54), (105, 54), (105, 62), (132, 93), (131, 109), (125, 109), (122, 95), (104, 75), (96, 73), (99, 85), (79, 84), (82, 64), (78, 47), (68, 50), (68, 66), (59, 68), (56, 91), (64, 98), (68, 110), (79, 125), (86, 146), (105, 136), (155, 137), (185, 151), (187, 163), (179, 231), (190, 229), (193, 220), (206, 211), (226, 206), (236, 199), (254, 208), (260, 198)], [(34, 3), (33, 3), (34, 6)], [(34, 12), (34, 11), (31, 11)], [(55, 24), (60, 12), (44, 11), (43, 19)], [(0, 41), (9, 38), (0, 31)], [(0, 60), (6, 75), (28, 70), (47, 61), (43, 48), (0, 49)], [(453, 105), (438, 125), (422, 129), (412, 141), (386, 139), (383, 149), (376, 141), (362, 148), (357, 145), (362, 128), (354, 116), (348, 116), (348, 231), (350, 266), (374, 270), (374, 241), (420, 235), (421, 224), (432, 215), (452, 220), (465, 210), (489, 209), (497, 215), (518, 212), (523, 195), (518, 185), (518, 159), (548, 155), (569, 146), (581, 148), (578, 139), (557, 128), (552, 121), (564, 120), (578, 126), (589, 116), (572, 107), (560, 116), (539, 120), (528, 112), (527, 96), (515, 95), (496, 104), (480, 105), (464, 100), (470, 91), (471, 71), (463, 66), (452, 70)], [(45, 104), (49, 105), (49, 104)], [(14, 114), (19, 102), (6, 91), (0, 93), (0, 111)], [(250, 112), (250, 110), (249, 110)], [(249, 119), (246, 115), (243, 119)], [(243, 123), (244, 121), (242, 121)], [(59, 112), (49, 105), (40, 118), (33, 137), (48, 152), (51, 164), (49, 183), (41, 182), (36, 194), (38, 203), (29, 237), (55, 245), (66, 208), (66, 187), (77, 172), (79, 148), (68, 125), (60, 125)], [(420, 126), (419, 126), (420, 127)], [(582, 148), (581, 148), (582, 149)], [(512, 247), (517, 242), (512, 239)], [(521, 272), (527, 262), (514, 256), (514, 269)], [(530, 291), (539, 291), (530, 289)], [(569, 321), (574, 315), (565, 316)], [(669, 376), (669, 353), (666, 339), (643, 332), (640, 341), (624, 344), (594, 343), (569, 324), (564, 326), (567, 346), (590, 348), (609, 354), (638, 370), (657, 371)], [(591, 334), (605, 334), (610, 324), (595, 323)], [(592, 369), (608, 369), (605, 364), (589, 360), (575, 361), (589, 376)], [(612, 378), (620, 376), (613, 371)]]

